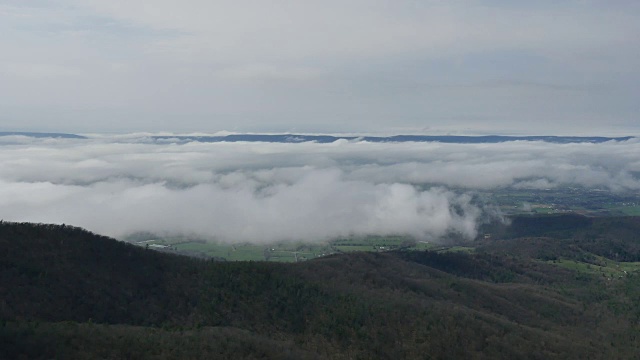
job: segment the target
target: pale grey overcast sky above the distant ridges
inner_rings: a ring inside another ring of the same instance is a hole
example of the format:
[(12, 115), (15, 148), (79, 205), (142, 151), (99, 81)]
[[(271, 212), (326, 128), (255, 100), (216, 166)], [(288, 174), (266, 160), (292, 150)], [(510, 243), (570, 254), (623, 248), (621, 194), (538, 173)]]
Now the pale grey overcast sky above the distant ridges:
[(0, 0), (0, 49), (0, 131), (640, 133), (637, 0)]

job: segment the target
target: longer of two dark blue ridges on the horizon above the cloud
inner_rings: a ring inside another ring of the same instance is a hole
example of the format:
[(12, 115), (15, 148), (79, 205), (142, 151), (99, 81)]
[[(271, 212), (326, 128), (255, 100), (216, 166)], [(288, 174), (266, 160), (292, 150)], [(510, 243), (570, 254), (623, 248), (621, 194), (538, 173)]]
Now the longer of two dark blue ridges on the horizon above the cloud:
[(395, 135), (395, 136), (337, 136), (337, 135), (300, 135), (300, 134), (232, 134), (225, 136), (152, 136), (155, 141), (186, 142), (270, 142), (270, 143), (303, 143), (316, 142), (328, 144), (338, 140), (359, 140), (375, 143), (400, 142), (441, 142), (450, 144), (495, 144), (507, 141), (544, 141), (555, 144), (568, 143), (603, 143), (606, 141), (626, 141), (633, 136), (458, 136), (458, 135)]

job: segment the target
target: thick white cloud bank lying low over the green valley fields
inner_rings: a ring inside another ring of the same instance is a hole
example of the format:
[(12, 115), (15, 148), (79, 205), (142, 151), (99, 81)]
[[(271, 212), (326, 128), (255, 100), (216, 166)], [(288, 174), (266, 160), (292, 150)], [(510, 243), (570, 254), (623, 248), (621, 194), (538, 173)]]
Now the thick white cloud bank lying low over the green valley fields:
[[(476, 235), (476, 189), (640, 190), (640, 142), (158, 144), (0, 138), (0, 218), (224, 241)], [(455, 190), (450, 190), (455, 189)]]

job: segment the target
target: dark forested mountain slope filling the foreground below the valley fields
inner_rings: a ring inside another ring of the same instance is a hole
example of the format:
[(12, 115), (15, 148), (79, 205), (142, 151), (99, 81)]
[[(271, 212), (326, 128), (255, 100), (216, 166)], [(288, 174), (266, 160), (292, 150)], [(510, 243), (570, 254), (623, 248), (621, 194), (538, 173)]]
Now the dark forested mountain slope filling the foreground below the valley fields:
[(605, 281), (483, 246), (225, 263), (1, 223), (0, 357), (635, 356), (635, 274)]

